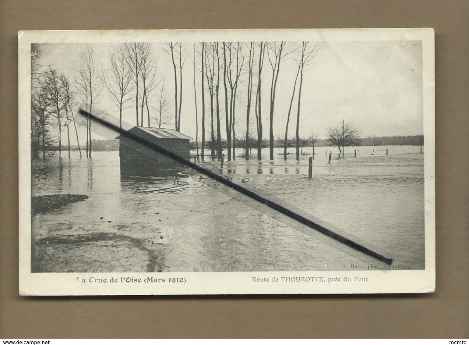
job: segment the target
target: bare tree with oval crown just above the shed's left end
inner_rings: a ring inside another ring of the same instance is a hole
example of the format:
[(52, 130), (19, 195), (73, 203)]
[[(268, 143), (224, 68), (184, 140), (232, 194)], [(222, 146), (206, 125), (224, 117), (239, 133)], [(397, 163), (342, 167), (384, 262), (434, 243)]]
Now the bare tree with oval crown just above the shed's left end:
[(114, 50), (109, 54), (109, 61), (111, 64), (110, 73), (103, 73), (103, 81), (107, 90), (112, 96), (113, 102), (119, 107), (119, 125), (122, 128), (122, 110), (124, 104), (131, 98), (129, 92), (132, 89), (132, 70), (126, 61), (127, 49), (124, 44), (119, 44), (114, 47)]

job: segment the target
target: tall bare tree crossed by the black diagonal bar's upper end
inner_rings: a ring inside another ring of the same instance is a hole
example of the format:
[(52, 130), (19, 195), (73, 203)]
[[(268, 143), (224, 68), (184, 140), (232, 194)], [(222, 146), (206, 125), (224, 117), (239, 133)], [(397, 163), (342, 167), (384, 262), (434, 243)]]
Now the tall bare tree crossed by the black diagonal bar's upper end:
[[(97, 103), (103, 91), (102, 77), (97, 67), (93, 48), (87, 45), (75, 61), (75, 81), (84, 100), (86, 111), (92, 114), (92, 107)], [(91, 119), (87, 117), (87, 157), (91, 158)]]

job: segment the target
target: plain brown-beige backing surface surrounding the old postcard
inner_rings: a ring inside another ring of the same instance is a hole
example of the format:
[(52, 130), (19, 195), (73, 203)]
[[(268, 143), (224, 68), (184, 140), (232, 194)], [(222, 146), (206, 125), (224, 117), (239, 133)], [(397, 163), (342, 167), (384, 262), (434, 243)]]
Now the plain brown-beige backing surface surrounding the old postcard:
[[(469, 3), (0, 2), (0, 337), (469, 337)], [(20, 298), (17, 32), (64, 29), (433, 27), (437, 290), (427, 295)]]

